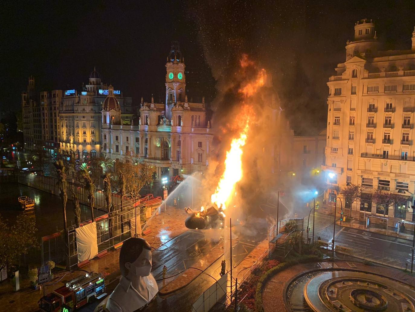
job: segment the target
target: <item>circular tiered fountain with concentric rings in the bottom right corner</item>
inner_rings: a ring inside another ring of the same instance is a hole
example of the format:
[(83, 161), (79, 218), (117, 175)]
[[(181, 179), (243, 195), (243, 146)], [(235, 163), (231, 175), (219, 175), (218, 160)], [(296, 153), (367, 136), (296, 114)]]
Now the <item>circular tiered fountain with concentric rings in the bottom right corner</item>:
[(298, 311), (415, 312), (415, 287), (393, 278), (356, 269), (304, 272), (286, 286), (286, 307), (303, 302)]

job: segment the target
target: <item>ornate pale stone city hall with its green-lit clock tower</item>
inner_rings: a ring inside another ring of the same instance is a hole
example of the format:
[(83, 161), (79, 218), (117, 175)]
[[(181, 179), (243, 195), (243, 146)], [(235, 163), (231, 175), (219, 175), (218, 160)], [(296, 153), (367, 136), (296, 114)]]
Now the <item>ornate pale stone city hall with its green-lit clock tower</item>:
[(157, 177), (205, 171), (212, 152), (213, 129), (205, 101), (186, 95), (183, 56), (173, 45), (166, 62), (166, 102), (141, 99), (138, 124), (121, 116), (113, 90), (102, 109), (102, 151), (112, 159), (130, 155), (156, 167)]

